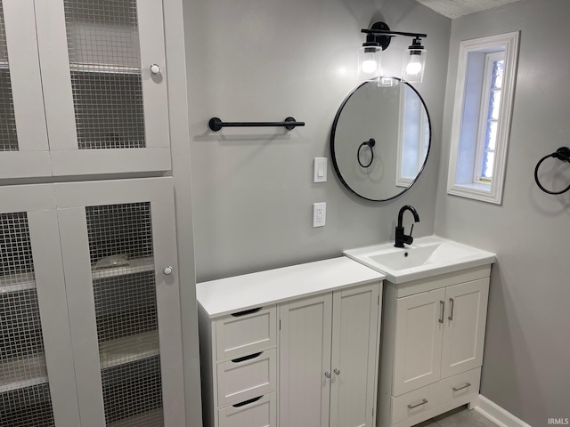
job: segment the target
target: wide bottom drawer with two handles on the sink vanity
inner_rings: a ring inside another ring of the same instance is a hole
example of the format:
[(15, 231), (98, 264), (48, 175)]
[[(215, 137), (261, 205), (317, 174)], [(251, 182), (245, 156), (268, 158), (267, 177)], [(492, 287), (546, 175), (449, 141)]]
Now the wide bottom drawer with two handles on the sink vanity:
[[(472, 369), (459, 375), (429, 384), (418, 390), (392, 398), (392, 423), (426, 414), (432, 409), (479, 392), (481, 368)], [(470, 384), (470, 385), (468, 385)], [(455, 389), (455, 390), (453, 390)]]

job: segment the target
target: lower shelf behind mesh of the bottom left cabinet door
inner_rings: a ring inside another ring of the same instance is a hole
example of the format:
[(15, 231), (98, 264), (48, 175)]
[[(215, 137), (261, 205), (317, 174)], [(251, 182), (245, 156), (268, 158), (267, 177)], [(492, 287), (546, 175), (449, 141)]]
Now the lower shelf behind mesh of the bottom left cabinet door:
[[(30, 371), (35, 372), (37, 376), (32, 378), (23, 376), (29, 374)], [(14, 377), (13, 373), (21, 373), (22, 377)], [(25, 358), (9, 359), (4, 363), (0, 363), (0, 375), (0, 393), (47, 383), (47, 367), (45, 366), (44, 353)]]

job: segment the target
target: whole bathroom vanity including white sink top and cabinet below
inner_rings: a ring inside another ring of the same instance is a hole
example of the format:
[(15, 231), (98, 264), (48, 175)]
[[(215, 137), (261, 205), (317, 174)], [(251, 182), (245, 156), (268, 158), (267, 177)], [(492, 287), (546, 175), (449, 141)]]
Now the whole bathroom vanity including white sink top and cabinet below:
[(386, 274), (379, 427), (410, 427), (474, 407), (495, 254), (435, 236), (345, 254)]

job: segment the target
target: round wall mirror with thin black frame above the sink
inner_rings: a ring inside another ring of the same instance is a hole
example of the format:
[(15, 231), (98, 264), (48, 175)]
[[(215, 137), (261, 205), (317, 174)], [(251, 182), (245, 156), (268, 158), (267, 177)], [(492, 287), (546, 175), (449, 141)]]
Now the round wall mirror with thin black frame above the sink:
[(338, 178), (354, 194), (383, 202), (418, 179), (428, 159), (431, 124), (426, 104), (410, 84), (366, 82), (338, 109), (330, 135)]

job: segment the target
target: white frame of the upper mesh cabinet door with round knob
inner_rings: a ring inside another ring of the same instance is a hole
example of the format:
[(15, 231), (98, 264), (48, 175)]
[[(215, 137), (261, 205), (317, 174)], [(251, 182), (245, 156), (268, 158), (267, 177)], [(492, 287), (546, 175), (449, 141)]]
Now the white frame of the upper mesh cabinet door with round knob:
[[(138, 0), (137, 12), (146, 148), (78, 149), (63, 0), (36, 0), (37, 44), (53, 175), (170, 169), (162, 2)], [(158, 76), (151, 75), (152, 64), (162, 68)]]

